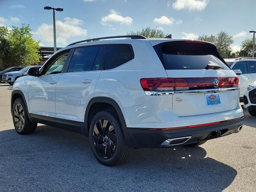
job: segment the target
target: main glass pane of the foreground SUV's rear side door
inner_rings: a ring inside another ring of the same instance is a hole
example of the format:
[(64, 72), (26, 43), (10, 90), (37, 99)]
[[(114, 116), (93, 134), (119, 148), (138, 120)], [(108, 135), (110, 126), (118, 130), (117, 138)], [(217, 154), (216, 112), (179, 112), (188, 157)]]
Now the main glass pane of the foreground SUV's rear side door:
[(76, 48), (68, 66), (69, 72), (91, 71), (100, 46)]

